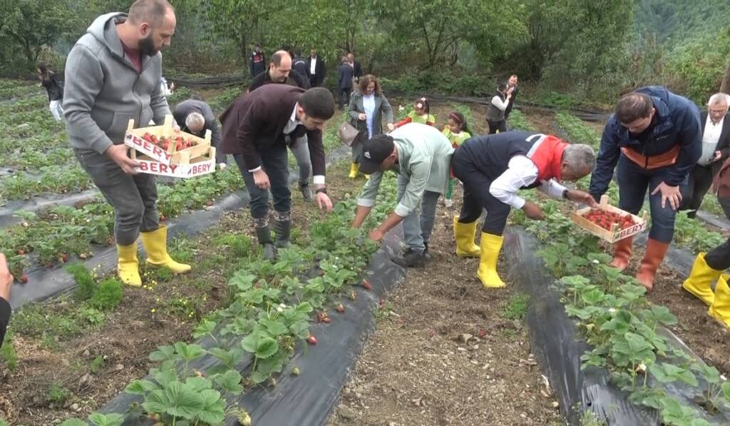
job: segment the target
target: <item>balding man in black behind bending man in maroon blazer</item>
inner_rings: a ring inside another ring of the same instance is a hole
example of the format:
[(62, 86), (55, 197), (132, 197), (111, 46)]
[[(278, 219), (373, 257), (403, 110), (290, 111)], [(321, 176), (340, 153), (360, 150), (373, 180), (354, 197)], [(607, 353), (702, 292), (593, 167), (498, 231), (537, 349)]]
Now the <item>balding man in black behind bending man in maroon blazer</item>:
[[(269, 69), (257, 75), (248, 86), (248, 91), (255, 91), (262, 85), (267, 84), (288, 84), (303, 89), (310, 88), (307, 77), (292, 69), (291, 56), (285, 50), (278, 50), (272, 55), (272, 62)], [(307, 135), (304, 134), (297, 139), (293, 145), (289, 145), (291, 153), (294, 154), (296, 165), (299, 167), (299, 191), (307, 201), (312, 201), (312, 189), (310, 188), (310, 175), (312, 175), (312, 163), (310, 162), (310, 148), (307, 144)]]

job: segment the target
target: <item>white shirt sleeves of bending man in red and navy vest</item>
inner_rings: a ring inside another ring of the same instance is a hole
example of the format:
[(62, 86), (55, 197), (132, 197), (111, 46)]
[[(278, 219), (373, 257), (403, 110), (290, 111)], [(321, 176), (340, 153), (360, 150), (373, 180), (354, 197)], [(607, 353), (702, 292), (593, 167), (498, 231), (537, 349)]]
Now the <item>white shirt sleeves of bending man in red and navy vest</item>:
[[(539, 170), (531, 159), (527, 156), (513, 156), (507, 165), (507, 170), (492, 181), (489, 186), (489, 193), (499, 201), (513, 208), (522, 208), (525, 205), (525, 199), (518, 196), (517, 191), (525, 186), (530, 186), (537, 180)], [(538, 191), (547, 194), (550, 197), (561, 198), (565, 186), (562, 186), (554, 179), (542, 180)]]

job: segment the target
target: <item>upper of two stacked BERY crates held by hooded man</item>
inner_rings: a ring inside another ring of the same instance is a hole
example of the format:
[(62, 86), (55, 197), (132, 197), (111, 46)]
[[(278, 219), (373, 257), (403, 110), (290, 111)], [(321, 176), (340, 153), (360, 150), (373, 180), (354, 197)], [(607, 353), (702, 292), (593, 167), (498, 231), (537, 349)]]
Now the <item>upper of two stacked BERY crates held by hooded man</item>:
[[(129, 120), (127, 132), (124, 135), (124, 145), (134, 148), (150, 159), (155, 159), (166, 165), (189, 164), (192, 159), (204, 156), (210, 148), (210, 129), (205, 131), (205, 137), (197, 137), (186, 132), (175, 132), (172, 128), (172, 115), (165, 115), (165, 122), (162, 126), (147, 126), (134, 129), (134, 119)], [(185, 140), (192, 140), (195, 145), (190, 148), (177, 151), (175, 143), (169, 143), (167, 149), (163, 149), (153, 142), (145, 140), (145, 134), (154, 135), (158, 139), (170, 137), (183, 137)]]

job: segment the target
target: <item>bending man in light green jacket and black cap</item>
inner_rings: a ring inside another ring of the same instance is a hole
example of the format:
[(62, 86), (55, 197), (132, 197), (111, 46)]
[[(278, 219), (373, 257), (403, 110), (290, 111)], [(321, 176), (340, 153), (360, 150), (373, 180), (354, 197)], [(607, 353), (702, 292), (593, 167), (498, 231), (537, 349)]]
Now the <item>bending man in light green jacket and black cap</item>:
[(452, 153), (451, 142), (438, 129), (419, 123), (406, 124), (365, 142), (360, 171), (369, 174), (370, 179), (358, 199), (353, 228), (361, 227), (375, 204), (383, 172), (398, 170), (398, 205), (369, 236), (380, 241), (403, 221), (408, 247), (403, 257), (393, 261), (404, 267), (425, 265), (437, 202), (450, 178)]

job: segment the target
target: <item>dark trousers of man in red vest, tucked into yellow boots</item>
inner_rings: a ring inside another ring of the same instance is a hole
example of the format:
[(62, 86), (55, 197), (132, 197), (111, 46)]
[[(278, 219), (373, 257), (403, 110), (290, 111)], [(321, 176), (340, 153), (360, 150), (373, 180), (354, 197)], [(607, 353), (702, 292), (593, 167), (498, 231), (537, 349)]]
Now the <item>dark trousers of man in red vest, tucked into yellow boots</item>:
[(470, 224), (479, 219), (482, 210), (487, 210), (482, 232), (491, 235), (502, 235), (510, 216), (510, 206), (494, 198), (489, 192), (491, 178), (477, 169), (465, 150), (456, 150), (451, 157), (451, 168), (454, 176), (464, 183), (464, 202), (458, 221)]

